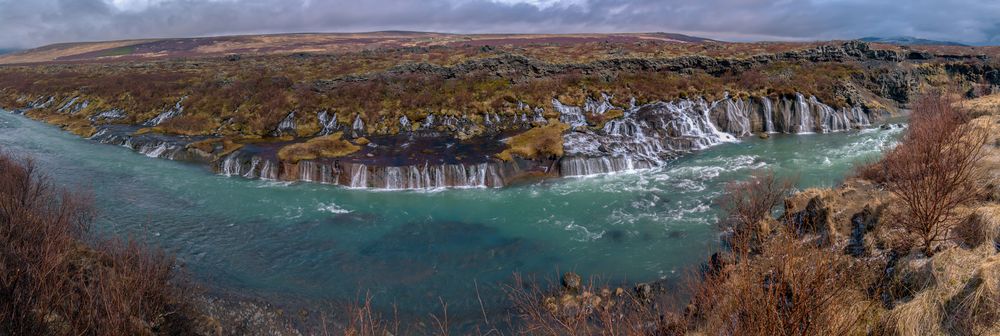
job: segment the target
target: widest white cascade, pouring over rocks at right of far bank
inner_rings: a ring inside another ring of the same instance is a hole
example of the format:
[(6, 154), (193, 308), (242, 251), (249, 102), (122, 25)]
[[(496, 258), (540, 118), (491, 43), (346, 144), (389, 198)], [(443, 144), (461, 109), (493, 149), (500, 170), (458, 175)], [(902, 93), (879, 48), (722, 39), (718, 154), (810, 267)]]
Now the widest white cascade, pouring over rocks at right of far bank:
[[(560, 117), (564, 122), (585, 122), (577, 107), (558, 100), (553, 107), (569, 114)], [(768, 97), (735, 99), (728, 94), (714, 102), (684, 99), (636, 106), (633, 100), (621, 118), (601, 130), (564, 135), (560, 172), (582, 176), (654, 168), (679, 154), (736, 142), (753, 132), (843, 131), (868, 126), (871, 118), (860, 106), (838, 110), (802, 94), (776, 105)]]

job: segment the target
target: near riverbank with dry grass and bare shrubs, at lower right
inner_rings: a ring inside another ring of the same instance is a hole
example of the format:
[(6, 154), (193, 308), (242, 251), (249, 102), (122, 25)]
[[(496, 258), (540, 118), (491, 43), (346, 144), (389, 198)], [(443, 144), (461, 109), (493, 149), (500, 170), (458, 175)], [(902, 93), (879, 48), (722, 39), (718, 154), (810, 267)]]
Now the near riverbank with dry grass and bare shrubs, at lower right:
[(790, 182), (767, 172), (730, 184), (718, 202), (725, 249), (681, 290), (511, 286), (519, 330), (1000, 333), (1000, 199), (990, 191), (1000, 127), (995, 116), (971, 120), (957, 106), (947, 94), (921, 96), (901, 143), (838, 188), (792, 194)]

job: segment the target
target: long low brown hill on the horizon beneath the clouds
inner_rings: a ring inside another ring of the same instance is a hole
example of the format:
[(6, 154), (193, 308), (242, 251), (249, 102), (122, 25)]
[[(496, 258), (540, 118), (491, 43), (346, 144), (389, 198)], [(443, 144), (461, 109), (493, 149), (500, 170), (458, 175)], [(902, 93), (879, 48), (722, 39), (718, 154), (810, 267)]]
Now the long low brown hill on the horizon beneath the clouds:
[(378, 48), (433, 46), (529, 46), (594, 42), (702, 43), (712, 40), (670, 33), (444, 34), (407, 31), (244, 35), (53, 44), (0, 55), (0, 64), (148, 60), (230, 54), (340, 53)]

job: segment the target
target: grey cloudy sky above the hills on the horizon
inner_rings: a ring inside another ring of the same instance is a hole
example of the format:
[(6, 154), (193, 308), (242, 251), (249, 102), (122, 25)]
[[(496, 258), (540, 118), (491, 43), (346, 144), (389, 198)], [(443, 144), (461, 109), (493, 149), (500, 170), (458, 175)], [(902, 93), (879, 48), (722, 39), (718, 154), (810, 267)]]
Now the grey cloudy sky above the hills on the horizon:
[(730, 41), (1000, 43), (1000, 0), (0, 0), (0, 48), (143, 37), (417, 30), (676, 32)]

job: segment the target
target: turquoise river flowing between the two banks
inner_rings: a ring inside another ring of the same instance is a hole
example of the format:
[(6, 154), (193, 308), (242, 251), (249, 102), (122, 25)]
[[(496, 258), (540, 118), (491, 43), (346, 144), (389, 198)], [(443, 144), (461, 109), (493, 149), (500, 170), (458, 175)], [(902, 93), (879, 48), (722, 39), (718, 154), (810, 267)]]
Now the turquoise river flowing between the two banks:
[(379, 192), (227, 178), (0, 113), (0, 147), (92, 192), (100, 232), (177, 253), (197, 280), (279, 304), (350, 300), (453, 323), (503, 308), (514, 272), (609, 281), (679, 276), (718, 249), (712, 200), (755, 169), (832, 186), (899, 130), (743, 139), (643, 172), (505, 189)]

